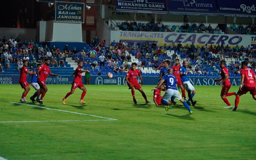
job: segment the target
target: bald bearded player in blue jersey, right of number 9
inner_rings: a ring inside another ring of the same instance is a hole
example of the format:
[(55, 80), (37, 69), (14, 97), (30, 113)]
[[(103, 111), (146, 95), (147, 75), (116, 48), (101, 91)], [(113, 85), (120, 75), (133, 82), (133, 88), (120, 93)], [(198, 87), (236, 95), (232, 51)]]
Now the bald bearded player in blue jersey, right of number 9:
[[(189, 98), (189, 100), (187, 101), (188, 105), (190, 105), (189, 101), (191, 101), (192, 106), (195, 106), (196, 101), (193, 101), (193, 97), (196, 94), (196, 90), (193, 87), (193, 85), (189, 82), (187, 65), (188, 65), (188, 61), (184, 60), (183, 66), (180, 67), (180, 77), (181, 77), (181, 82), (182, 82), (183, 87), (188, 92), (188, 98)], [(191, 91), (192, 91), (192, 94), (191, 94)]]

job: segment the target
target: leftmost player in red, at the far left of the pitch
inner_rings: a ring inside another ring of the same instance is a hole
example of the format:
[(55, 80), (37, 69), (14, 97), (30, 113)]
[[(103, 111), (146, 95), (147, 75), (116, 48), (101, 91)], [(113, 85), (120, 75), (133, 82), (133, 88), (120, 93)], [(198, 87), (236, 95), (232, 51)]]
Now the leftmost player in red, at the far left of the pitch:
[(28, 68), (27, 68), (28, 60), (23, 60), (22, 63), (23, 63), (23, 67), (20, 70), (20, 81), (19, 82), (20, 82), (21, 88), (24, 89), (24, 92), (22, 93), (20, 101), (25, 102), (25, 101), (27, 101), (26, 95), (28, 94), (28, 92), (30, 90), (29, 84), (27, 82), (27, 74), (34, 75), (34, 74), (36, 74), (36, 72), (30, 72), (28, 70)]

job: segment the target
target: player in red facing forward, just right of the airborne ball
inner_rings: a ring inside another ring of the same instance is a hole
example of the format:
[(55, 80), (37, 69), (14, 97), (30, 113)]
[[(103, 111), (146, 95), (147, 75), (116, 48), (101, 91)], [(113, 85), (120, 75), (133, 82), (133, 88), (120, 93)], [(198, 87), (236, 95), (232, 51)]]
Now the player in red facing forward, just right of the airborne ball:
[[(140, 93), (142, 94), (143, 98), (145, 99), (146, 103), (150, 103), (147, 100), (147, 96), (142, 90), (141, 86), (143, 85), (142, 77), (140, 74), (140, 71), (136, 69), (137, 63), (133, 62), (132, 63), (132, 68), (127, 72), (125, 80), (127, 82), (127, 85), (129, 86), (129, 89), (132, 90), (132, 97), (133, 97), (133, 102), (134, 104), (137, 104), (137, 101), (135, 99), (135, 89), (139, 90)], [(137, 81), (137, 76), (140, 78), (140, 84)]]

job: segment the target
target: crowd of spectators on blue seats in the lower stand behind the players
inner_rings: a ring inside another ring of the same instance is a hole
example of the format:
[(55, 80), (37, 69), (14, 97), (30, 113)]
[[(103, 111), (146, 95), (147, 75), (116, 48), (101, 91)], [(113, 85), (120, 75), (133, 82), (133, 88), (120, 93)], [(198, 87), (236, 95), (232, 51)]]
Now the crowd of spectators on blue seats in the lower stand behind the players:
[[(236, 45), (234, 48), (223, 44), (218, 46), (205, 44), (202, 47), (195, 47), (193, 43), (190, 46), (183, 46), (181, 43), (157, 46), (155, 42), (143, 42), (142, 44), (135, 42), (129, 45), (125, 40), (123, 42), (120, 40), (118, 43), (114, 40), (106, 45), (104, 40), (100, 42), (95, 36), (91, 44), (77, 51), (76, 47), (71, 50), (68, 45), (63, 50), (55, 45), (50, 49), (47, 45), (37, 45), (32, 40), (27, 43), (26, 41), (20, 42), (19, 37), (16, 39), (11, 37), (9, 40), (4, 37), (0, 42), (0, 57), (6, 69), (9, 68), (10, 63), (19, 64), (20, 60), (25, 59), (29, 61), (29, 67), (35, 68), (37, 63), (44, 61), (44, 58), (51, 60), (52, 67), (60, 67), (60, 64), (66, 67), (65, 58), (72, 57), (76, 62), (83, 61), (84, 68), (97, 75), (108, 72), (123, 75), (133, 61), (138, 64), (137, 67), (141, 71), (144, 67), (159, 70), (164, 59), (170, 59), (171, 65), (174, 65), (176, 58), (179, 58), (181, 63), (183, 60), (188, 61), (188, 71), (191, 74), (207, 75), (211, 74), (212, 69), (205, 64), (220, 69), (220, 60), (226, 59), (230, 73), (238, 75), (243, 60), (247, 60), (249, 67), (255, 69), (256, 50), (250, 45), (246, 47)], [(0, 66), (0, 70), (2, 69), (3, 67)], [(157, 74), (154, 75), (157, 76)]]

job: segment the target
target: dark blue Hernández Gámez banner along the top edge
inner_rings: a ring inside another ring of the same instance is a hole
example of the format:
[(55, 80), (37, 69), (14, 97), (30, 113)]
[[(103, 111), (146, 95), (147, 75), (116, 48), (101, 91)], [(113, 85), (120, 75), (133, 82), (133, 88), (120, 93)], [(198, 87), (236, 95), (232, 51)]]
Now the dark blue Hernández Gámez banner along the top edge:
[(116, 0), (116, 11), (138, 13), (167, 13), (165, 0)]

